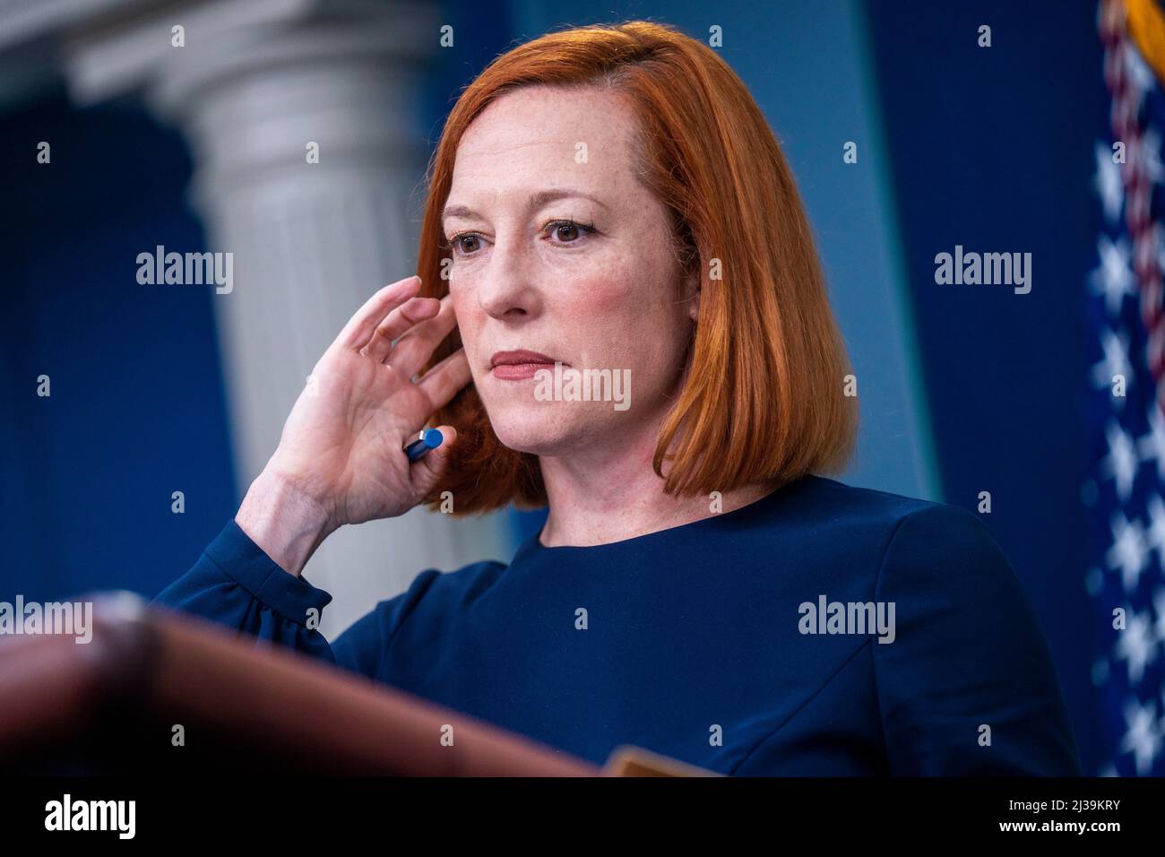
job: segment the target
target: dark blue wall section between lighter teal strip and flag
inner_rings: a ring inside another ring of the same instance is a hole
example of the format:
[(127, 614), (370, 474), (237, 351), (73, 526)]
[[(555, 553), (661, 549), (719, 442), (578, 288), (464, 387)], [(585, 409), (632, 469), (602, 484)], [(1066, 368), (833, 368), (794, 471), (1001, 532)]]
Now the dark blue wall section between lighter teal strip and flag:
[[(1090, 2), (869, 5), (920, 363), (947, 501), (981, 515), (1036, 603), (1086, 771), (1101, 761), (1080, 486), (1093, 140)], [(979, 24), (993, 47), (976, 45)], [(938, 286), (934, 255), (1032, 253), (1032, 289)]]

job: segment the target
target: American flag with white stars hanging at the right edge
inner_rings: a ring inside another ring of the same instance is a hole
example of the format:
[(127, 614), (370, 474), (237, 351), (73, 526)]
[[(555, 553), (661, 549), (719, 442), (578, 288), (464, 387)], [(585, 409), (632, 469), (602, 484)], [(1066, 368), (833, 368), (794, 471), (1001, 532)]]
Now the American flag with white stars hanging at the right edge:
[[(1090, 568), (1106, 775), (1165, 774), (1165, 14), (1101, 0), (1109, 127), (1095, 142), (1086, 289)], [(1155, 69), (1157, 71), (1155, 71)]]

